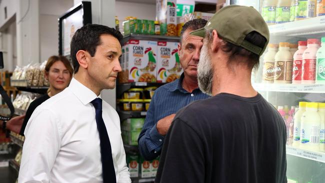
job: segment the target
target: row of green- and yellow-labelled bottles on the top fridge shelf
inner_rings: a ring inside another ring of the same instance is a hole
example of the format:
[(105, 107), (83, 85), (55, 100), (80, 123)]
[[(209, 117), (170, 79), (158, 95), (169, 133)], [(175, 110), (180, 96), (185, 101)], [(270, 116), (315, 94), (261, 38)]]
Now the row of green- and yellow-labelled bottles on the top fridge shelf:
[(261, 14), (268, 25), (325, 15), (325, 0), (264, 0)]

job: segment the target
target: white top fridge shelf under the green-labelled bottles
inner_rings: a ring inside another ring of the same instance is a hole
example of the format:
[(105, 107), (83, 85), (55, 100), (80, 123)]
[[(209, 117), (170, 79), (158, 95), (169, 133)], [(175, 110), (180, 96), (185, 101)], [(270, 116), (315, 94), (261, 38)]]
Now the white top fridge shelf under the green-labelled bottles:
[(268, 26), (270, 35), (297, 36), (325, 32), (325, 16)]

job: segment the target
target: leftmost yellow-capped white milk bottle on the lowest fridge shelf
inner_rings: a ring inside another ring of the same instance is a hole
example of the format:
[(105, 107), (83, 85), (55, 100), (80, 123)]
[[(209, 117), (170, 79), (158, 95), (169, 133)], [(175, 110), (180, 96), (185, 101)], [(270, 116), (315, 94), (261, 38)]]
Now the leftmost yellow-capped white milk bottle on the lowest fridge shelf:
[(292, 146), (299, 147), (300, 145), (300, 129), (301, 129), (301, 116), (306, 109), (306, 102), (299, 102), (299, 109), (293, 115), (293, 142)]

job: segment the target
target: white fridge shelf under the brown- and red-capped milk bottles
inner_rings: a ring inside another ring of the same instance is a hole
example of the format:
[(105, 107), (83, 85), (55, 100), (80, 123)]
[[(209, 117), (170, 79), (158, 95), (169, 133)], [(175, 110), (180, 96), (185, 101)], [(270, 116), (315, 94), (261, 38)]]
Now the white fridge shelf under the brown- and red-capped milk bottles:
[(257, 91), (279, 91), (279, 92), (301, 92), (301, 93), (323, 93), (325, 84), (275, 84), (275, 83), (253, 83)]

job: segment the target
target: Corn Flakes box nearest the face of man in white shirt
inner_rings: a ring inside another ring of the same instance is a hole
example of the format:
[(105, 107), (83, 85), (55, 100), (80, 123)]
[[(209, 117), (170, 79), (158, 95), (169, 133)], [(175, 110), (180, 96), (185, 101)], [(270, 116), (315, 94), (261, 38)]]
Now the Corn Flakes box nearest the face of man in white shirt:
[(127, 41), (125, 60), (128, 82), (156, 82), (156, 48), (157, 41)]

